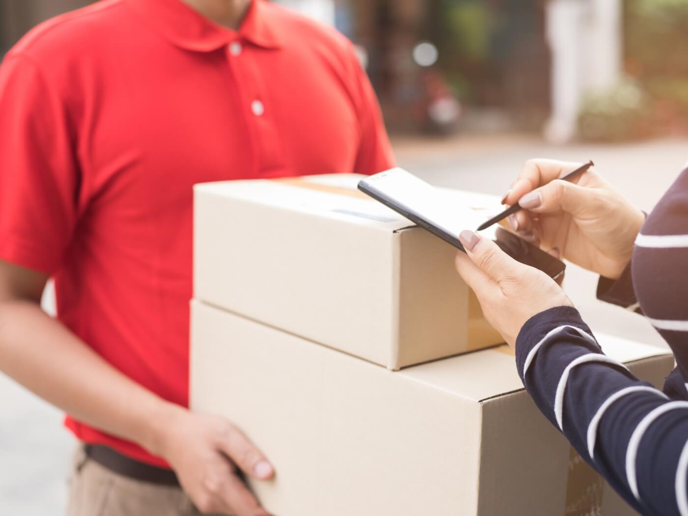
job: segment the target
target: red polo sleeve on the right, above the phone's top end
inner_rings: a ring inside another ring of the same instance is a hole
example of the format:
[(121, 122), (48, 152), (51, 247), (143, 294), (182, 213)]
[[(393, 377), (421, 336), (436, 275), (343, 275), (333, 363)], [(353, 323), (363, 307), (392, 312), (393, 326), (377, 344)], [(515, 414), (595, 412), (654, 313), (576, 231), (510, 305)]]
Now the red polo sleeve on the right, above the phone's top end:
[(365, 69), (358, 62), (358, 57), (351, 47), (354, 61), (356, 88), (361, 96), (358, 107), (358, 122), (361, 140), (356, 155), (354, 172), (358, 174), (375, 174), (391, 169), (395, 166), (394, 154), (391, 150), (387, 129), (383, 121), (382, 111)]

